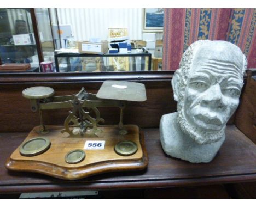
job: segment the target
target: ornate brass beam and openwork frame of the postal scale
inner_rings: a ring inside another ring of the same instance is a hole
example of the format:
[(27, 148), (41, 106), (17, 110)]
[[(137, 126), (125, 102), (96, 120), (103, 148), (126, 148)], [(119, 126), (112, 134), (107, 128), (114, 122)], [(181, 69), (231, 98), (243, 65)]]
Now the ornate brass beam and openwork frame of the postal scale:
[[(71, 137), (98, 136), (97, 134), (101, 132), (101, 130), (99, 130), (97, 126), (99, 123), (104, 123), (104, 119), (100, 118), (98, 107), (119, 107), (120, 121), (118, 126), (120, 128), (120, 134), (127, 133), (126, 130), (123, 129), (123, 109), (126, 106), (126, 101), (99, 99), (96, 97), (96, 94), (87, 93), (84, 88), (77, 94), (67, 96), (48, 97), (48, 94), (43, 98), (34, 96), (35, 99), (31, 99), (31, 96), (27, 97), (26, 91), (38, 90), (39, 88), (46, 89), (46, 87), (28, 88), (24, 90), (23, 95), (30, 99), (31, 110), (33, 112), (39, 111), (41, 133), (46, 134), (49, 132), (43, 124), (43, 110), (73, 108), (65, 119), (65, 130), (62, 130), (62, 133), (67, 132)], [(95, 112), (96, 118), (92, 118), (85, 109), (92, 109)], [(77, 114), (79, 114), (78, 118)], [(71, 125), (71, 123), (73, 123), (73, 125)]]

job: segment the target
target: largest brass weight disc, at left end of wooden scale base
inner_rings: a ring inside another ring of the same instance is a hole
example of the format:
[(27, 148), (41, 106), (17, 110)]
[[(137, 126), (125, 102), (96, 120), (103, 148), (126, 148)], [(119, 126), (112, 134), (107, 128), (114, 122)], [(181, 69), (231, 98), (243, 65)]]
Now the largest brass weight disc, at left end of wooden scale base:
[(36, 137), (22, 143), (20, 154), (23, 156), (40, 155), (50, 148), (50, 140), (45, 137)]

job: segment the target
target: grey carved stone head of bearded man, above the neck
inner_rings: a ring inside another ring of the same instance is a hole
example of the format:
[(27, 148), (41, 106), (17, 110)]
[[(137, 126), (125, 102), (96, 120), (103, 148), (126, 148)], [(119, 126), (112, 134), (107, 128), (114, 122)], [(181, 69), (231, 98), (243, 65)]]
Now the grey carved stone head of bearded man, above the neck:
[(184, 52), (172, 79), (178, 124), (199, 144), (217, 142), (235, 112), (247, 60), (226, 41), (199, 40)]

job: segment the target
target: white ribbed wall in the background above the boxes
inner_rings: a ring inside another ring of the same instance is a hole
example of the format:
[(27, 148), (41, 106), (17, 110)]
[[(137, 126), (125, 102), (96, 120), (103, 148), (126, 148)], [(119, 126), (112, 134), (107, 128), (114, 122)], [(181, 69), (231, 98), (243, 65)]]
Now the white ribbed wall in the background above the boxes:
[[(53, 14), (54, 9), (50, 9)], [(70, 24), (75, 40), (89, 40), (99, 37), (108, 38), (108, 28), (127, 28), (131, 40), (141, 40), (143, 33), (143, 9), (57, 9), (60, 25)], [(54, 16), (54, 15), (52, 15)], [(53, 18), (56, 24), (56, 19)], [(159, 34), (159, 39), (162, 33)]]

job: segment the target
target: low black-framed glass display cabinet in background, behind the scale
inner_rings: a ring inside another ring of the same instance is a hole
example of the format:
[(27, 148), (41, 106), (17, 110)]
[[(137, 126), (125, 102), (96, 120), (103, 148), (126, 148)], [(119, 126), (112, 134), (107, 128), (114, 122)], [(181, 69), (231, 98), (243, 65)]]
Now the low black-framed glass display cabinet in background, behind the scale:
[(150, 71), (151, 53), (55, 53), (57, 72)]

